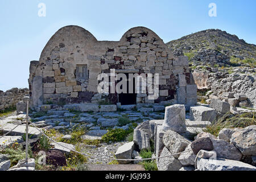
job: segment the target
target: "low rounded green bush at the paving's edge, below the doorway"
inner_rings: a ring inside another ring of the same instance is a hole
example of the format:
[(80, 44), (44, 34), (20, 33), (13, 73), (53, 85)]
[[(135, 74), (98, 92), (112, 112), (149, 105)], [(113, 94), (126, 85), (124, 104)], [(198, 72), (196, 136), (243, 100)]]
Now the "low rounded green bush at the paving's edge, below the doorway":
[(108, 133), (102, 136), (101, 140), (103, 142), (119, 142), (125, 139), (127, 133), (123, 129), (113, 129), (110, 130)]

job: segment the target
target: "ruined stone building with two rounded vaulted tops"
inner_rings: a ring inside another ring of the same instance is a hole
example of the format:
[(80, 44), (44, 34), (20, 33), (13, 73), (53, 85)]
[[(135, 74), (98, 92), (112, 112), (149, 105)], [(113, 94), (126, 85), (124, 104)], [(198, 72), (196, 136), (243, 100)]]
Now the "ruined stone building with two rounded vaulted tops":
[[(147, 93), (99, 94), (100, 73), (158, 73), (159, 97)], [(28, 79), (32, 105), (98, 103), (108, 99), (121, 105), (195, 105), (196, 84), (186, 56), (175, 57), (155, 32), (145, 27), (127, 31), (119, 41), (98, 41), (79, 26), (60, 28), (44, 47), (39, 61), (31, 61)]]

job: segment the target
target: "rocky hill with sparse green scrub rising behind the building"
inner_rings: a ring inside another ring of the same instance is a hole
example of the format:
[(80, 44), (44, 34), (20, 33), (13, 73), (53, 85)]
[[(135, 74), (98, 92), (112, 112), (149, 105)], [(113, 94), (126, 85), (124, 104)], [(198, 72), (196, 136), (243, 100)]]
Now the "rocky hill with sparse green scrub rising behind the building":
[(256, 45), (248, 44), (236, 35), (209, 29), (172, 40), (167, 46), (174, 55), (188, 56), (191, 67), (207, 65), (256, 67)]

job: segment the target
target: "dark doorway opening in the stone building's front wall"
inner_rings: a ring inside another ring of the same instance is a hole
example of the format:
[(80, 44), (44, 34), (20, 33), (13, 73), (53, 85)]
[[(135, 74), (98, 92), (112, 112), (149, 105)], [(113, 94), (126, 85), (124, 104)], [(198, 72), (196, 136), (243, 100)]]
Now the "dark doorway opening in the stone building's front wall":
[(133, 93), (129, 93), (129, 73), (125, 73), (125, 75), (127, 77), (127, 93), (119, 93), (118, 100), (121, 103), (121, 105), (136, 104), (135, 78), (133, 78)]

